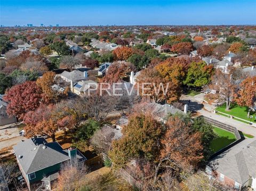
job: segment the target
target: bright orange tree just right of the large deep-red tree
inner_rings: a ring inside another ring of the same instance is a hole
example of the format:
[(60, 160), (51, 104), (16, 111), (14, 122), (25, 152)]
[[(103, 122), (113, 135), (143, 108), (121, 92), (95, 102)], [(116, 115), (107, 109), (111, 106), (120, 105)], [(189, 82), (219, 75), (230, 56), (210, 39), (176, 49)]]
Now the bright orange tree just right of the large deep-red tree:
[(42, 96), (44, 99), (44, 103), (57, 103), (60, 101), (61, 98), (67, 96), (68, 88), (63, 91), (59, 92), (58, 90), (54, 90), (52, 86), (55, 84), (55, 73), (54, 72), (46, 72), (43, 74), (42, 78), (38, 78), (36, 80), (36, 84), (38, 87), (42, 89)]

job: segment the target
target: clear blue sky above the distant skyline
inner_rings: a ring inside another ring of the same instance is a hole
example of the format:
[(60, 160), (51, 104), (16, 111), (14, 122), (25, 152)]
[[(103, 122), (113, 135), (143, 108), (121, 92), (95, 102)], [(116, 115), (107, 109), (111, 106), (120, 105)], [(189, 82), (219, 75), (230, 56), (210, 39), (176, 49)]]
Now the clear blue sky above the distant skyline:
[(0, 5), (4, 26), (256, 24), (256, 0), (0, 0)]

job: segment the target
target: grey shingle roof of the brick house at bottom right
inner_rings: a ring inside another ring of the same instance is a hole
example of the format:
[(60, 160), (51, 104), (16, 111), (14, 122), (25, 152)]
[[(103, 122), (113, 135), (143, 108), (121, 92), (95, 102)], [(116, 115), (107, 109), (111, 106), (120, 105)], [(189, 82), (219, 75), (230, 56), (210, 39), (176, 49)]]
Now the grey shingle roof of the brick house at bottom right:
[(223, 175), (244, 184), (256, 177), (256, 138), (248, 138), (216, 156), (209, 166)]

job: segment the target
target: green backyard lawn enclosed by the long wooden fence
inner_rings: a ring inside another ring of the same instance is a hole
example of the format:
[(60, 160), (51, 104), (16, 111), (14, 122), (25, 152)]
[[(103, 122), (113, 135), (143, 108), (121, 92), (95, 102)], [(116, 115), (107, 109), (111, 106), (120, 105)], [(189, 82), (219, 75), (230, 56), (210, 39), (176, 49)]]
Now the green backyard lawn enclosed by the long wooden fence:
[(232, 132), (223, 130), (218, 127), (214, 127), (213, 131), (218, 135), (218, 137), (213, 139), (211, 143), (211, 149), (214, 152), (221, 150), (221, 148), (228, 146), (236, 140), (236, 137)]

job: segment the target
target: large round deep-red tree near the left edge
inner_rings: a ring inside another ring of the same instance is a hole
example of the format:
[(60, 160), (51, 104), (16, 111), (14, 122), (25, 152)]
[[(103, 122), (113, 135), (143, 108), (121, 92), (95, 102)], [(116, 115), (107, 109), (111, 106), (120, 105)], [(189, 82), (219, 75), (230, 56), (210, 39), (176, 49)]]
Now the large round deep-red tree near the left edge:
[(20, 120), (29, 111), (34, 111), (42, 102), (42, 90), (35, 81), (26, 81), (7, 90), (4, 101), (8, 103), (7, 113)]

